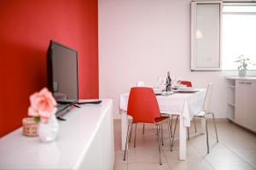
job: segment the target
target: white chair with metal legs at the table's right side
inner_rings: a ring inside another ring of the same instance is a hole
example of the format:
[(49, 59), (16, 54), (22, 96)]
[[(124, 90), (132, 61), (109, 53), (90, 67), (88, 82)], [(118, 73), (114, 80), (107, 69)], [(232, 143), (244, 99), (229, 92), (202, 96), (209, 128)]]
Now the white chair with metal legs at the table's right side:
[[(212, 115), (212, 120), (213, 120), (213, 124), (214, 124), (214, 128), (215, 128), (216, 139), (217, 139), (217, 143), (218, 143), (218, 132), (217, 132), (217, 127), (216, 127), (216, 123), (215, 123), (215, 117), (214, 117), (214, 114), (212, 113), (212, 111), (210, 111), (210, 105), (211, 105), (211, 99), (212, 99), (212, 87), (213, 87), (213, 84), (209, 83), (208, 87), (207, 87), (207, 94), (206, 94), (206, 97), (205, 97), (205, 101), (204, 101), (202, 110), (198, 114), (196, 114), (194, 116), (194, 117), (204, 118), (206, 120), (207, 154), (209, 153), (207, 115)], [(176, 131), (176, 126), (177, 126), (177, 119), (176, 119), (176, 123), (175, 123), (175, 127), (174, 127), (174, 132), (173, 132), (172, 145), (173, 145), (174, 135), (175, 135), (175, 131)]]

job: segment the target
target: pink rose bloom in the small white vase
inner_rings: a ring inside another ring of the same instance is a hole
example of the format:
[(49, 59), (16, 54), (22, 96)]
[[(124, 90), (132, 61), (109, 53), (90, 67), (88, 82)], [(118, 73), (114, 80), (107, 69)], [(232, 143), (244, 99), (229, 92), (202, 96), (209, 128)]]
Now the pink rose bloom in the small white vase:
[(39, 116), (42, 122), (48, 122), (49, 117), (55, 114), (56, 101), (47, 88), (30, 96), (29, 116)]

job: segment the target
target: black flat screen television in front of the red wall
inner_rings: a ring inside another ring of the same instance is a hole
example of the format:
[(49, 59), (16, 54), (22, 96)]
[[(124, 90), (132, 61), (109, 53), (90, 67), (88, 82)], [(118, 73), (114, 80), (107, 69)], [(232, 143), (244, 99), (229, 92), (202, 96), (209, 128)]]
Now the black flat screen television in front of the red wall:
[(50, 41), (47, 54), (48, 88), (59, 104), (79, 99), (78, 52)]

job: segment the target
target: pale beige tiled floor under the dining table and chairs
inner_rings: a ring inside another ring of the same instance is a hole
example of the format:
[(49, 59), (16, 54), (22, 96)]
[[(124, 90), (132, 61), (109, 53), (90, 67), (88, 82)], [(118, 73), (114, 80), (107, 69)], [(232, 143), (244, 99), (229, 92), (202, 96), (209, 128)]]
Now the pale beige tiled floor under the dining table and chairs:
[[(200, 122), (197, 122), (200, 126)], [(216, 143), (212, 122), (209, 123), (210, 154), (207, 154), (206, 135), (196, 133), (190, 127), (188, 140), (188, 156), (186, 161), (178, 161), (178, 129), (174, 150), (170, 151), (167, 136), (167, 124), (164, 131), (163, 164), (159, 164), (158, 141), (154, 125), (137, 126), (137, 147), (133, 147), (132, 135), (127, 159), (123, 161), (121, 150), (121, 123), (114, 121), (115, 170), (251, 170), (256, 169), (256, 134), (250, 133), (230, 122), (218, 122), (218, 138)], [(178, 125), (177, 125), (178, 127)], [(133, 133), (134, 134), (134, 133)]]

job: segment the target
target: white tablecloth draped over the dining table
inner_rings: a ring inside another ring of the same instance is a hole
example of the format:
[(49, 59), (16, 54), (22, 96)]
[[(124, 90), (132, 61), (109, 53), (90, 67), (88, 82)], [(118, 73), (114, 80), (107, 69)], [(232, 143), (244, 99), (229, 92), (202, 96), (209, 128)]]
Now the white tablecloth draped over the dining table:
[[(184, 126), (190, 127), (193, 116), (202, 109), (206, 89), (195, 89), (195, 94), (172, 94), (169, 96), (157, 95), (160, 112), (166, 114), (176, 114), (183, 117)], [(129, 94), (121, 94), (119, 108), (127, 111)]]

